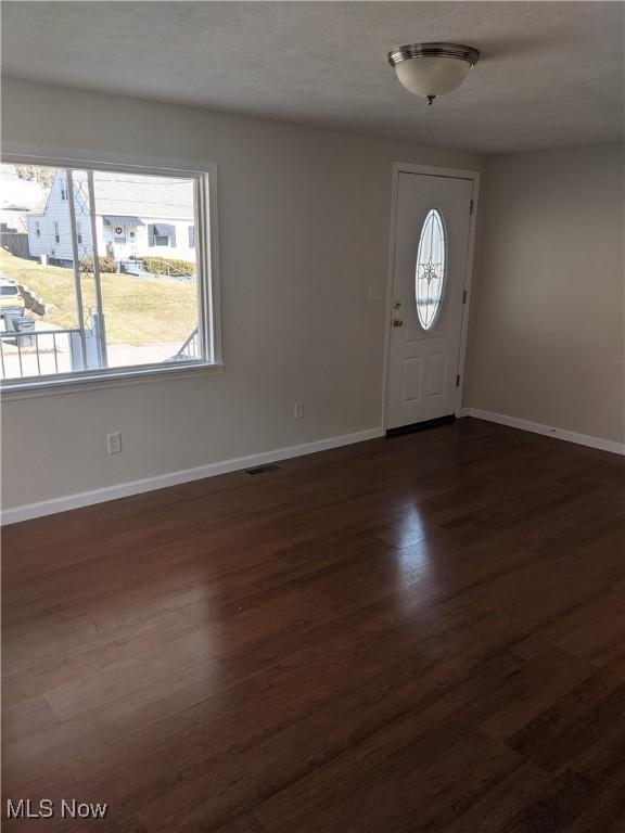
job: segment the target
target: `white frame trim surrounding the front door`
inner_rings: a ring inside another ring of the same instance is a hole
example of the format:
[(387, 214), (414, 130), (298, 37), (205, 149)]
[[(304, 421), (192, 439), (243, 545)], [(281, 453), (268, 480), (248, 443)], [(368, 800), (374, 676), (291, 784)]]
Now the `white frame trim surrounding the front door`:
[(384, 374), (382, 383), (382, 428), (388, 424), (388, 377), (391, 362), (391, 319), (393, 317), (393, 278), (395, 271), (395, 232), (397, 222), (397, 196), (399, 192), (400, 174), (421, 174), (430, 177), (450, 179), (469, 179), (473, 182), (473, 210), (469, 221), (469, 242), (467, 245), (467, 269), (464, 273), (464, 291), (467, 303), (462, 305), (462, 323), (460, 325), (460, 353), (458, 356), (457, 373), (460, 374), (460, 385), (456, 389), (455, 415), (462, 416), (462, 393), (464, 390), (464, 370), (467, 361), (467, 341), (469, 337), (469, 311), (471, 306), (471, 286), (473, 281), (473, 259), (475, 254), (475, 229), (477, 226), (477, 208), (480, 198), (480, 171), (462, 170), (459, 168), (438, 167), (436, 165), (417, 165), (410, 162), (394, 162), (391, 166), (391, 228), (388, 238), (388, 270), (386, 278), (386, 323), (384, 325)]

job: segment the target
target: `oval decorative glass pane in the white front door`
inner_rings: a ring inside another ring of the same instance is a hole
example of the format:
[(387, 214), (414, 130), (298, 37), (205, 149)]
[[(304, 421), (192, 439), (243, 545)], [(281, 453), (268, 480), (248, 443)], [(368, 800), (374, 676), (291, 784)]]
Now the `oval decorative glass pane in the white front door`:
[(447, 242), (443, 216), (431, 208), (423, 221), (417, 253), (414, 299), (423, 330), (431, 330), (441, 313), (447, 269)]

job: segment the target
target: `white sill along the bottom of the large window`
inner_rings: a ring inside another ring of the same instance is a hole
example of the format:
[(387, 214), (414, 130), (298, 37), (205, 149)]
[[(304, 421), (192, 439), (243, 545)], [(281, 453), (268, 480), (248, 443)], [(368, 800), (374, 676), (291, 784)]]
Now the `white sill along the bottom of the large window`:
[(87, 390), (103, 390), (111, 387), (128, 387), (166, 382), (171, 380), (190, 379), (204, 375), (215, 375), (224, 372), (224, 364), (176, 364), (174, 367), (155, 368), (120, 368), (115, 371), (85, 373), (62, 379), (33, 380), (31, 382), (7, 382), (0, 384), (2, 401), (30, 399), (39, 396), (60, 396), (65, 394), (81, 394)]

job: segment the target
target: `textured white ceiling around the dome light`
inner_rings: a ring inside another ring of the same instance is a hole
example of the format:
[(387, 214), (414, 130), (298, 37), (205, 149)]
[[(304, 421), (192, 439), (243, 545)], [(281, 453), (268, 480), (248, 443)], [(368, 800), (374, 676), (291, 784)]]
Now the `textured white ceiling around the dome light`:
[[(3, 72), (485, 152), (618, 141), (621, 2), (2, 3)], [(482, 59), (434, 106), (386, 63), (401, 43)]]

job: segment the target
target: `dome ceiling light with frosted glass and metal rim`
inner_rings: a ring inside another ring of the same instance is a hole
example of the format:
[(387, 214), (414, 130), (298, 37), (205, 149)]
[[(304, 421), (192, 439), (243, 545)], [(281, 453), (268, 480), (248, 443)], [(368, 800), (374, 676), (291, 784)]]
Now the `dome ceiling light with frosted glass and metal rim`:
[(436, 95), (454, 92), (477, 63), (480, 52), (461, 43), (410, 43), (388, 52), (399, 84), (432, 104)]

